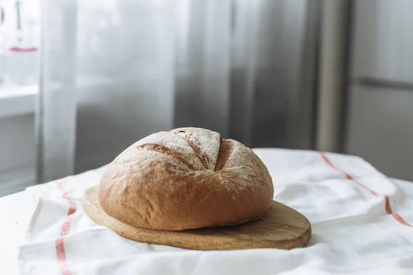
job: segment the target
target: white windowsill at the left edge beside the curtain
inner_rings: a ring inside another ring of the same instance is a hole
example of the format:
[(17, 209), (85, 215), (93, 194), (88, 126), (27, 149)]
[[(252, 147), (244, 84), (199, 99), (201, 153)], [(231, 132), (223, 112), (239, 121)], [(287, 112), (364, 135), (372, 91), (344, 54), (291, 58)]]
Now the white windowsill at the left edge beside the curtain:
[(37, 85), (0, 87), (0, 118), (34, 113)]

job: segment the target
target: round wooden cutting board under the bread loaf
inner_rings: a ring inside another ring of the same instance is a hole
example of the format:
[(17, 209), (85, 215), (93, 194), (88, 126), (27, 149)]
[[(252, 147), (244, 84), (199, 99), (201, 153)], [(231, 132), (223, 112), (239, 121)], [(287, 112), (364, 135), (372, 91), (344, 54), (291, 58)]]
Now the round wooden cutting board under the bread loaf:
[(127, 239), (142, 243), (171, 245), (192, 250), (242, 250), (251, 248), (302, 248), (308, 243), (311, 225), (299, 212), (273, 201), (268, 212), (257, 221), (218, 228), (162, 231), (135, 228), (109, 216), (100, 207), (98, 186), (83, 197), (83, 209), (96, 223)]

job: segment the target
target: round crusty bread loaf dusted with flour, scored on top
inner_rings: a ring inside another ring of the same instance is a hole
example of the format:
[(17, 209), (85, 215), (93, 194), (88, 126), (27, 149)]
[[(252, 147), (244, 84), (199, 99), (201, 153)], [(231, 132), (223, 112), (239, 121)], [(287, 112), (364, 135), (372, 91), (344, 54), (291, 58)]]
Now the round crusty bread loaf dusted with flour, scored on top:
[(141, 228), (186, 230), (259, 219), (273, 201), (261, 159), (200, 128), (149, 135), (120, 153), (100, 179), (100, 206)]

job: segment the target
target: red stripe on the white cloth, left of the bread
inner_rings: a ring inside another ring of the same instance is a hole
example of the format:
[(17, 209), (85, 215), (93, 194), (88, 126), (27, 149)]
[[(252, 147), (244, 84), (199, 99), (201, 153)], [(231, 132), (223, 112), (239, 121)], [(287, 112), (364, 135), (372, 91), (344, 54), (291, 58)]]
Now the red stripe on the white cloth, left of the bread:
[(66, 219), (65, 221), (63, 221), (63, 224), (62, 224), (61, 238), (56, 239), (56, 255), (57, 255), (57, 260), (59, 261), (61, 265), (62, 274), (70, 275), (72, 274), (72, 272), (70, 272), (69, 268), (67, 267), (65, 244), (63, 243), (62, 237), (69, 234), (70, 224), (72, 224), (72, 214), (76, 212), (76, 204), (74, 204), (74, 201), (72, 201), (69, 195), (67, 195), (67, 192), (61, 182), (57, 183), (57, 188), (59, 188), (63, 199), (66, 199), (67, 202), (69, 203), (69, 210), (67, 210)]

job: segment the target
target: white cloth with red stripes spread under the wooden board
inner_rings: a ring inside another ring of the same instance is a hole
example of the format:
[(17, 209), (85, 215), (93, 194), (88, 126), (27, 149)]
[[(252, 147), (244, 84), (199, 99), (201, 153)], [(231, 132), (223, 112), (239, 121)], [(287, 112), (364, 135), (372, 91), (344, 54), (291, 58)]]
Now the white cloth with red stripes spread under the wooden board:
[(21, 274), (413, 274), (407, 192), (358, 157), (255, 151), (273, 177), (274, 199), (312, 223), (306, 248), (200, 252), (129, 241), (81, 208), (100, 168), (28, 188), (36, 207)]

